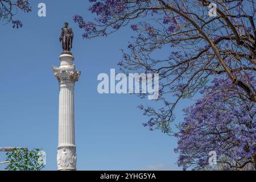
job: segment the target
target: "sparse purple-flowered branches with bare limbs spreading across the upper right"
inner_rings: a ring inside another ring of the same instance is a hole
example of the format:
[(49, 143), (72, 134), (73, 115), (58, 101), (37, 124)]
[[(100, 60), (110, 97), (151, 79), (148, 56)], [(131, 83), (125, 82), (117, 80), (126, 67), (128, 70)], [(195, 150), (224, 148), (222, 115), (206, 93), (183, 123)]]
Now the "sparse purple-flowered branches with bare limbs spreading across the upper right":
[[(150, 118), (144, 125), (171, 134), (177, 102), (192, 98), (221, 75), (228, 76), (232, 88), (241, 88), (236, 92), (242, 99), (256, 101), (255, 85), (247, 78), (256, 70), (254, 1), (212, 1), (217, 4), (216, 17), (208, 15), (207, 0), (89, 1), (95, 20), (73, 18), (84, 29), (83, 37), (106, 36), (129, 24), (138, 34), (118, 65), (123, 72), (159, 73), (164, 106), (140, 106)], [(162, 59), (155, 57), (162, 49), (170, 51)]]

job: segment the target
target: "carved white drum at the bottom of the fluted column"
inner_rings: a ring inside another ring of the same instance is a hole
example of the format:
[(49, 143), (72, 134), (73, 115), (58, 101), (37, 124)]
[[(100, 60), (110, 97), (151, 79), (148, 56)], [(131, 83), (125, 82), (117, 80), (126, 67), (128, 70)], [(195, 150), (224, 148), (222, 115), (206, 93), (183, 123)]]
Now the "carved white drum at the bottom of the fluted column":
[(61, 147), (58, 149), (57, 165), (59, 170), (76, 170), (76, 147)]

